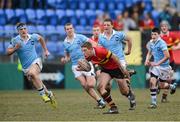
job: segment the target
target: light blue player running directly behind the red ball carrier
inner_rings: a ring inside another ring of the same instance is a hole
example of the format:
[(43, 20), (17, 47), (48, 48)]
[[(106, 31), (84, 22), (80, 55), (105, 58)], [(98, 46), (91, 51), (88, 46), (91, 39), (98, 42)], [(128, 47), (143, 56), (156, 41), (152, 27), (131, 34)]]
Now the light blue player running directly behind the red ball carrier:
[[(104, 33), (99, 35), (99, 45), (107, 48), (112, 53), (114, 53), (120, 60), (123, 67), (126, 69), (126, 60), (125, 60), (125, 54), (129, 55), (131, 53), (131, 47), (132, 42), (131, 38), (127, 36), (122, 31), (115, 31), (113, 30), (113, 22), (111, 19), (105, 19), (104, 20)], [(127, 51), (124, 53), (124, 45), (127, 44)], [(129, 72), (131, 74), (131, 72)], [(129, 83), (129, 79), (120, 79), (120, 83)], [(110, 92), (111, 90), (111, 84), (108, 84), (106, 87), (107, 92)], [(123, 86), (123, 85), (121, 85)], [(130, 84), (129, 84), (130, 87)], [(136, 106), (135, 96), (130, 90), (129, 92), (131, 97), (128, 97), (130, 100), (130, 110), (134, 110)]]

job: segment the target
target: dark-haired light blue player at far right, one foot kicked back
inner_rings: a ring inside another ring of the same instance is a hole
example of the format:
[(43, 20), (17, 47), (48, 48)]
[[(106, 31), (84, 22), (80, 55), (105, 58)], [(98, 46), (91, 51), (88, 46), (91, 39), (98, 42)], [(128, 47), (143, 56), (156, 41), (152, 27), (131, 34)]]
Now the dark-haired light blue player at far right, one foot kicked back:
[[(150, 92), (151, 104), (149, 108), (157, 108), (157, 84), (160, 88), (176, 90), (176, 84), (168, 84), (166, 81), (172, 78), (172, 68), (169, 65), (169, 52), (166, 43), (160, 38), (160, 30), (152, 29), (151, 40), (147, 44), (148, 53), (145, 65), (150, 66)], [(150, 61), (153, 56), (153, 61)], [(160, 81), (158, 83), (158, 81)]]

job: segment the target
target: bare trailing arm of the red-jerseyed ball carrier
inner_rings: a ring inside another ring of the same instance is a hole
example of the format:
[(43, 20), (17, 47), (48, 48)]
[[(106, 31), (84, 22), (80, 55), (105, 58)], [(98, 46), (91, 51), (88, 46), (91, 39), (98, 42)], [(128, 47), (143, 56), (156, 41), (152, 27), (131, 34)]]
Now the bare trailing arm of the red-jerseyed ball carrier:
[(121, 62), (119, 61), (119, 58), (112, 53), (111, 58), (119, 65), (119, 69), (122, 71), (122, 73), (125, 75), (125, 77), (130, 78), (129, 72), (124, 69)]

